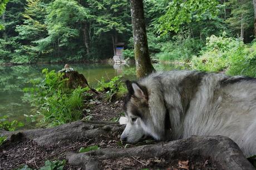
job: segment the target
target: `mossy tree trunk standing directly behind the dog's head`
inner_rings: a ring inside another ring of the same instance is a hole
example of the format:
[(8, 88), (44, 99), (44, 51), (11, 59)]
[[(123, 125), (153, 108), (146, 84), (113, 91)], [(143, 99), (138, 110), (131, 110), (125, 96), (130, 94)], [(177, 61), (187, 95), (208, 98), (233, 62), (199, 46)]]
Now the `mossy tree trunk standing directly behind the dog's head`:
[(137, 78), (142, 78), (154, 71), (147, 46), (146, 25), (142, 0), (130, 0), (131, 19), (134, 34), (134, 55)]

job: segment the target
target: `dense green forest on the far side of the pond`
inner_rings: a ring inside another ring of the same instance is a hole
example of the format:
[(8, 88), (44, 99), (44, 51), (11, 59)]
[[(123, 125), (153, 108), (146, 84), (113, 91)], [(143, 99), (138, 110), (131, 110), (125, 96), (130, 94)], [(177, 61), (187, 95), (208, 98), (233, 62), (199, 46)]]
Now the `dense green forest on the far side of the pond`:
[[(152, 61), (255, 76), (254, 6), (250, 0), (144, 1)], [(96, 62), (117, 42), (134, 58), (126, 0), (10, 0), (0, 24), (0, 62)]]

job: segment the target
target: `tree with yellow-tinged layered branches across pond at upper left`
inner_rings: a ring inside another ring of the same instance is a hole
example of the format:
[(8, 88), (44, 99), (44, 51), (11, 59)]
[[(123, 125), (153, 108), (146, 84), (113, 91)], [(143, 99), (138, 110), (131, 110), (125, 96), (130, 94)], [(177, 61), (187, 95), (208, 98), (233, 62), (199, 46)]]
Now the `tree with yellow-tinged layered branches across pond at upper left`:
[(23, 24), (16, 25), (18, 36), (16, 40), (21, 43), (19, 49), (16, 50), (14, 58), (27, 58), (29, 62), (38, 59), (40, 53), (36, 48), (36, 40), (45, 38), (47, 30), (45, 25), (46, 4), (41, 0), (26, 0), (27, 7), (23, 13)]

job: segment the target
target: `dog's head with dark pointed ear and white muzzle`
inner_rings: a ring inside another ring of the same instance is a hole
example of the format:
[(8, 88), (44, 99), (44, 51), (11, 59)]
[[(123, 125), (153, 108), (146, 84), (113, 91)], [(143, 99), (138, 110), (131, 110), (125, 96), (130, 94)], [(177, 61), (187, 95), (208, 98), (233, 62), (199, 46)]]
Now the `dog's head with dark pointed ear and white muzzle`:
[[(164, 122), (159, 120), (159, 116), (152, 116), (157, 114), (159, 110), (155, 106), (149, 106), (157, 105), (154, 104), (154, 101), (150, 101), (149, 89), (135, 81), (126, 81), (126, 86), (128, 94), (125, 100), (125, 117), (120, 119), (120, 123), (126, 124), (126, 127), (122, 132), (121, 140), (135, 143), (143, 140), (146, 136), (161, 140), (164, 129), (160, 131), (159, 129), (162, 128), (161, 123)], [(161, 105), (157, 107), (161, 107)], [(163, 112), (162, 110), (160, 109), (160, 112)], [(160, 125), (157, 125), (157, 123), (160, 123)]]

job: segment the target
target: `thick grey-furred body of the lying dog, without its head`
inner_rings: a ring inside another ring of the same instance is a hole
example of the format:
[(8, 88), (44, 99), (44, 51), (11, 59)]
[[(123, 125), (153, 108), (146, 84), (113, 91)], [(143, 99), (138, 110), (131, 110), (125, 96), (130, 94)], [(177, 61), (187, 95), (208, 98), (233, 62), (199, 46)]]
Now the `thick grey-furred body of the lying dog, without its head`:
[(139, 84), (149, 90), (149, 97), (156, 91), (164, 96), (171, 138), (223, 135), (237, 142), (247, 156), (256, 154), (255, 79), (169, 71), (151, 74)]

